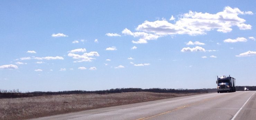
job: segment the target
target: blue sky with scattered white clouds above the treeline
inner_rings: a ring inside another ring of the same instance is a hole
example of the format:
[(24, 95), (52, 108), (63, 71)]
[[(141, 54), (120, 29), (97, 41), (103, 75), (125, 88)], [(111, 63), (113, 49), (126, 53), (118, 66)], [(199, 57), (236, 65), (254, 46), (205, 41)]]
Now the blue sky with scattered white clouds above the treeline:
[(0, 89), (256, 85), (255, 1), (2, 1)]

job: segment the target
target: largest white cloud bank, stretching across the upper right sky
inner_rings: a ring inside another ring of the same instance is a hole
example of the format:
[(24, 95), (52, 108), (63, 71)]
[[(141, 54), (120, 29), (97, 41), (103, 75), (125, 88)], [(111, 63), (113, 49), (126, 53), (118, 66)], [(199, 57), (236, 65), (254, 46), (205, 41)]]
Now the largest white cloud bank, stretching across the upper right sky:
[[(253, 12), (244, 12), (231, 7), (225, 7), (223, 11), (215, 14), (189, 11), (180, 15), (175, 23), (170, 23), (164, 19), (153, 22), (144, 21), (136, 28), (136, 31), (139, 32), (125, 29), (122, 34), (139, 37), (138, 41), (132, 41), (138, 44), (147, 43), (148, 40), (155, 40), (165, 35), (202, 35), (212, 30), (227, 33), (232, 31), (232, 26), (238, 26), (240, 30), (251, 29), (251, 25), (244, 23), (245, 19), (238, 17), (241, 14), (253, 14)], [(174, 17), (172, 16), (170, 20), (174, 20)]]

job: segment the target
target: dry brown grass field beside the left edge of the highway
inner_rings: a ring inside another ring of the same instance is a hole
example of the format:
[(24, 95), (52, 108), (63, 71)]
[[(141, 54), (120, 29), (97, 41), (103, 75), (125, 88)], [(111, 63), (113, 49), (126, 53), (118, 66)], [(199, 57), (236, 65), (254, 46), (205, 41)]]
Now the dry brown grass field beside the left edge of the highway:
[(0, 120), (29, 119), (200, 93), (123, 92), (0, 99)]

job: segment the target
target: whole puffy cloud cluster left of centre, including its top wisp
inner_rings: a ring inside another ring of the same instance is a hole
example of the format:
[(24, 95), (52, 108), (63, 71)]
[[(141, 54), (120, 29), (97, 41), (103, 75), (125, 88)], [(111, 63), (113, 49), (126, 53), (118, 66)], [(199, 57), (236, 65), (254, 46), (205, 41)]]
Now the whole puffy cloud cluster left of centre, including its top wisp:
[(67, 56), (73, 57), (73, 59), (78, 59), (77, 61), (74, 61), (74, 63), (76, 63), (76, 62), (91, 62), (92, 59), (95, 59), (91, 56), (100, 56), (98, 52), (94, 52), (94, 51), (89, 52), (89, 53), (83, 53), (82, 55), (75, 54), (76, 52), (86, 52), (86, 49), (80, 48), (80, 49), (71, 50), (70, 53), (67, 54)]

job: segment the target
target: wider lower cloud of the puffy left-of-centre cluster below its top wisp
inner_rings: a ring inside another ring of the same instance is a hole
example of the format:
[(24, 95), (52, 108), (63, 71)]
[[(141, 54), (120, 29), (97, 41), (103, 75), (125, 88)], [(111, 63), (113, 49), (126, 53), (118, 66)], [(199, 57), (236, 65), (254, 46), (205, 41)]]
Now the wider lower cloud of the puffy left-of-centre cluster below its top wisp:
[(89, 52), (89, 53), (83, 53), (83, 55), (75, 54), (75, 53), (68, 53), (69, 57), (73, 57), (73, 59), (79, 59), (78, 61), (74, 61), (74, 63), (77, 62), (91, 62), (92, 58), (91, 56), (100, 56), (98, 52)]

